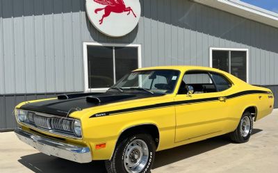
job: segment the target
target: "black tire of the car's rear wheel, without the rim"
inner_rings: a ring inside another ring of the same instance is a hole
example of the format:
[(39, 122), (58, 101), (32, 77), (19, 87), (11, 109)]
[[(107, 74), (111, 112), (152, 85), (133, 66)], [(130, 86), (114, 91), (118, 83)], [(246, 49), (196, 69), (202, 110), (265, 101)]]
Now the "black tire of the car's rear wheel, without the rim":
[[(249, 133), (245, 133), (245, 135), (243, 135), (241, 133), (241, 130), (243, 129), (242, 122), (245, 120), (249, 120), (249, 122), (250, 122), (250, 131), (249, 131)], [(252, 129), (253, 129), (253, 117), (250, 112), (245, 112), (245, 113), (243, 113), (243, 116), (241, 117), (236, 130), (229, 133), (229, 138), (233, 142), (237, 142), (237, 143), (247, 142), (250, 139)]]

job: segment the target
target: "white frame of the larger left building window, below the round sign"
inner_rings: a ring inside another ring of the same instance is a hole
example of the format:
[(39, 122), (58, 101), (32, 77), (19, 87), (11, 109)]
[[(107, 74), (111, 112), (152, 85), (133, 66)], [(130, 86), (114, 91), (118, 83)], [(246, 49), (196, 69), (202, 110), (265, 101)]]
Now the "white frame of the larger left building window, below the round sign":
[[(138, 49), (138, 68), (142, 67), (141, 44), (113, 44), (113, 43), (97, 43), (83, 42), (83, 73), (84, 73), (84, 91), (85, 92), (105, 92), (108, 88), (89, 88), (88, 81), (88, 49), (87, 46), (99, 47), (136, 47)], [(115, 55), (115, 53), (113, 53)], [(113, 70), (115, 81), (115, 56), (113, 56)]]

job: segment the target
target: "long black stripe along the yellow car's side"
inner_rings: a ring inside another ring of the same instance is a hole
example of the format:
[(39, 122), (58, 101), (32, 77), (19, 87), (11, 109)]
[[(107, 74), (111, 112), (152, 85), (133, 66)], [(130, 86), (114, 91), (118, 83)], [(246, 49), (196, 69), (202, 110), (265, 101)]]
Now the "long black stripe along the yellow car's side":
[[(240, 96), (247, 95), (247, 94), (270, 94), (270, 92), (262, 91), (262, 90), (247, 90), (247, 91), (231, 94), (231, 95), (227, 96), (226, 98), (232, 99), (234, 97), (240, 97)], [(95, 115), (92, 115), (91, 117), (104, 117), (104, 116), (108, 116), (108, 115), (117, 115), (120, 113), (130, 113), (130, 112), (150, 110), (150, 109), (155, 109), (155, 108), (183, 105), (183, 104), (195, 104), (195, 103), (208, 102), (208, 101), (218, 101), (218, 98), (219, 97), (210, 97), (210, 98), (205, 98), (205, 99), (165, 102), (165, 103), (161, 103), (161, 104), (152, 104), (152, 105), (148, 105), (148, 106), (139, 106), (139, 107), (126, 108), (126, 109), (121, 109), (121, 110), (112, 110), (112, 111), (108, 111), (105, 113), (96, 113)]]

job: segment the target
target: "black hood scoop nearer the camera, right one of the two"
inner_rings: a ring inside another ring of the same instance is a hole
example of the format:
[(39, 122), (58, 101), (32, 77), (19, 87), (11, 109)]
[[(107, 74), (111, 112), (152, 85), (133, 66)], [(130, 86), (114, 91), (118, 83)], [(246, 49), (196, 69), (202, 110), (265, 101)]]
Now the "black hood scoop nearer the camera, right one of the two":
[(115, 101), (123, 101), (125, 99), (129, 99), (131, 97), (136, 97), (133, 94), (122, 94), (122, 95), (107, 95), (101, 97), (95, 97), (93, 95), (86, 97), (86, 101), (93, 103), (93, 104), (106, 104)]

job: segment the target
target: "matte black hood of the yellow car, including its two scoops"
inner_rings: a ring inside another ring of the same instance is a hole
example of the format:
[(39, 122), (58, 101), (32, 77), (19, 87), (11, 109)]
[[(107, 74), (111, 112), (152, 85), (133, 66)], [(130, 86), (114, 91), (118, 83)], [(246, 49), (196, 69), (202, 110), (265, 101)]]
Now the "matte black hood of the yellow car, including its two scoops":
[(105, 93), (77, 93), (61, 94), (56, 99), (35, 101), (24, 104), (21, 109), (38, 113), (47, 113), (66, 117), (76, 110), (93, 108), (106, 104), (114, 104), (121, 101), (144, 99), (149, 97), (161, 97), (164, 94), (151, 94), (147, 92), (105, 92)]

